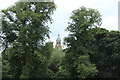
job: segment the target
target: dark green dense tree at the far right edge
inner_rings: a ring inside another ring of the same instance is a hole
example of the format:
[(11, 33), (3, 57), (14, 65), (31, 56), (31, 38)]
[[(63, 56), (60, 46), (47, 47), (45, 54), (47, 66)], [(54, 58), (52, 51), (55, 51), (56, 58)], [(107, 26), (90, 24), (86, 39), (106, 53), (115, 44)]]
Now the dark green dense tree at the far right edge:
[(120, 32), (109, 31), (103, 28), (91, 30), (95, 41), (91, 41), (91, 62), (96, 64), (99, 78), (120, 78)]

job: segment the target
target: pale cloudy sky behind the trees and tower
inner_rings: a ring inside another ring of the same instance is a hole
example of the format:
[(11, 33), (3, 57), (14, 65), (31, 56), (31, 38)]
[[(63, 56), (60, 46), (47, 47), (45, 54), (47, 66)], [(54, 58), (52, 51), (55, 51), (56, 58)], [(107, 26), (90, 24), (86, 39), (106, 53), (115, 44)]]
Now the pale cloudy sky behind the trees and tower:
[[(18, 0), (1, 0), (0, 10), (6, 9)], [(54, 0), (57, 8), (54, 11), (53, 23), (49, 24), (50, 41), (54, 42), (60, 34), (61, 40), (68, 35), (65, 29), (68, 26), (69, 17), (75, 9), (84, 6), (86, 8), (97, 9), (102, 15), (101, 28), (107, 30), (118, 30), (118, 2), (120, 0)]]

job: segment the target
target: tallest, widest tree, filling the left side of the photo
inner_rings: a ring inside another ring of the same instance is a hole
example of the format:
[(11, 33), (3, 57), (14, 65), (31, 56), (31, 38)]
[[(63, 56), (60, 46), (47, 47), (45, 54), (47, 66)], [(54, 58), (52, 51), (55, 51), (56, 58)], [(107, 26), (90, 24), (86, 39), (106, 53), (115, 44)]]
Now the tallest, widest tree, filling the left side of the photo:
[(45, 44), (45, 39), (49, 38), (47, 24), (52, 23), (54, 10), (53, 2), (17, 2), (2, 10), (2, 57), (3, 66), (8, 67), (4, 67), (3, 72), (9, 70), (6, 72), (12, 78), (46, 76), (44, 66), (51, 47)]

